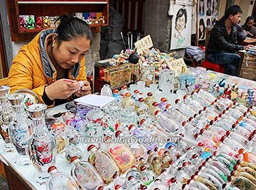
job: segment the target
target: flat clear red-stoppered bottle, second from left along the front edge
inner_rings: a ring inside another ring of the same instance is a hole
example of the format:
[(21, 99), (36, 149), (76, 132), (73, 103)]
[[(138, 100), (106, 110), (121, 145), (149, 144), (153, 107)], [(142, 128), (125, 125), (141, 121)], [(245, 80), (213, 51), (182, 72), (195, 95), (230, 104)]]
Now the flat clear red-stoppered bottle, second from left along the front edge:
[(72, 164), (71, 175), (82, 189), (93, 190), (100, 186), (103, 181), (99, 173), (87, 161), (80, 161), (74, 156), (70, 159)]

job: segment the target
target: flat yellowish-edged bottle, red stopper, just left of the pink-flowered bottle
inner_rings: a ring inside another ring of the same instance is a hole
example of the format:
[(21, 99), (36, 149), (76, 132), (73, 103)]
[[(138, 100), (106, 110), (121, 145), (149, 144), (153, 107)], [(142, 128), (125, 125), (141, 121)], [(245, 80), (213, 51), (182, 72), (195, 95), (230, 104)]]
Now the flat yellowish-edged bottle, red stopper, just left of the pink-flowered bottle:
[(90, 152), (89, 163), (99, 172), (104, 183), (110, 183), (115, 174), (120, 174), (115, 161), (106, 151), (97, 150), (95, 145), (89, 145), (87, 151)]

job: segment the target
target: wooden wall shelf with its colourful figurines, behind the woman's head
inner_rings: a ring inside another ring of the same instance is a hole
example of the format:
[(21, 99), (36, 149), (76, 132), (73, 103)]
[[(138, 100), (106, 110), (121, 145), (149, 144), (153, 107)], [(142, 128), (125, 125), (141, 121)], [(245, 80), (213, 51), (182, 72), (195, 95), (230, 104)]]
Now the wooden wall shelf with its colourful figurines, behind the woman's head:
[(108, 0), (8, 0), (12, 41), (31, 39), (44, 28), (58, 26), (55, 20), (63, 14), (76, 15), (86, 20), (90, 27), (108, 26), (108, 6)]

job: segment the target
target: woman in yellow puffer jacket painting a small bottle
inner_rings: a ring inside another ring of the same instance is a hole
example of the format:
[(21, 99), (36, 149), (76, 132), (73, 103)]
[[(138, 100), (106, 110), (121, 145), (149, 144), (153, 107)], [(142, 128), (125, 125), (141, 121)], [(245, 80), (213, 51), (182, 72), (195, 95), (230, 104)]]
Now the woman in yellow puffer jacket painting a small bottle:
[[(91, 29), (72, 15), (61, 15), (58, 20), (58, 28), (39, 32), (20, 48), (8, 76), (11, 93), (29, 89), (49, 107), (91, 94), (85, 66)], [(82, 87), (78, 81), (84, 81)]]

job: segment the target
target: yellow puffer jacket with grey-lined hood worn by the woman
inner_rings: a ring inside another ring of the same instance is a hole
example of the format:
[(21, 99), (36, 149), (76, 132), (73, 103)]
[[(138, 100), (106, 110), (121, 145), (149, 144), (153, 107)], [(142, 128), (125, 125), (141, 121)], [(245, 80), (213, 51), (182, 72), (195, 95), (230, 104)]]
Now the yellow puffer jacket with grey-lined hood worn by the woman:
[[(56, 81), (57, 77), (56, 69), (46, 52), (48, 41), (55, 31), (55, 29), (43, 30), (28, 45), (20, 48), (12, 61), (8, 76), (10, 93), (19, 89), (29, 89), (37, 94), (41, 103), (44, 103), (42, 94), (45, 86)], [(68, 77), (72, 80), (86, 80), (85, 58), (69, 69)], [(49, 107), (53, 105), (54, 102)]]

